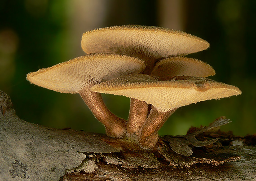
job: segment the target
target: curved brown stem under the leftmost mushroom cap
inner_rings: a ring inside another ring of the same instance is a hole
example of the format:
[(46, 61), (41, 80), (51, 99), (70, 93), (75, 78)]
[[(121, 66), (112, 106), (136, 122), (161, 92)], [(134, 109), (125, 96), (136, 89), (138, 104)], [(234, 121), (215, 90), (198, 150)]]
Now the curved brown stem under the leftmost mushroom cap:
[(88, 88), (79, 91), (79, 95), (83, 98), (93, 115), (106, 128), (106, 134), (110, 137), (121, 138), (125, 133), (126, 120), (115, 116), (106, 107), (102, 99), (101, 93), (93, 92)]

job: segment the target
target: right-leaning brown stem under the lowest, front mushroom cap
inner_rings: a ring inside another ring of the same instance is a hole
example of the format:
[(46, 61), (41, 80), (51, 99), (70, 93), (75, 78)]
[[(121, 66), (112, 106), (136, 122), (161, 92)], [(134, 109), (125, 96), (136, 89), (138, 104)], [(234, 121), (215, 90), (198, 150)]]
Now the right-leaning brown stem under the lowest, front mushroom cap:
[(149, 116), (141, 128), (139, 143), (141, 147), (153, 148), (158, 140), (158, 130), (163, 126), (165, 121), (176, 111), (174, 108), (167, 112), (159, 112), (153, 105)]

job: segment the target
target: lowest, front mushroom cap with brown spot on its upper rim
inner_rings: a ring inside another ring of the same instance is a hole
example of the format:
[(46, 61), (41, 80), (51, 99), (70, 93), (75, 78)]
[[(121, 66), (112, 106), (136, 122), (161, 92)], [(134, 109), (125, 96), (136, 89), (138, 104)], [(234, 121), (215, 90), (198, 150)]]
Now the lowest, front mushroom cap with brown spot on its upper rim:
[(172, 76), (154, 78), (145, 74), (132, 74), (102, 82), (91, 87), (101, 93), (124, 95), (152, 104), (159, 112), (197, 103), (239, 95), (235, 87), (208, 78)]

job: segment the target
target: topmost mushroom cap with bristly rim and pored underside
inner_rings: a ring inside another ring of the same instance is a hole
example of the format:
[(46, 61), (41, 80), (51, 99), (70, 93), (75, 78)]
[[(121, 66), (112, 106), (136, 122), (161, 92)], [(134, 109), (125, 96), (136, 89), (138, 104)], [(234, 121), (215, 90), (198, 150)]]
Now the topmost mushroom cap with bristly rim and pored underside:
[(205, 40), (182, 31), (138, 25), (88, 31), (83, 34), (81, 45), (86, 53), (103, 52), (153, 59), (185, 55), (209, 47)]

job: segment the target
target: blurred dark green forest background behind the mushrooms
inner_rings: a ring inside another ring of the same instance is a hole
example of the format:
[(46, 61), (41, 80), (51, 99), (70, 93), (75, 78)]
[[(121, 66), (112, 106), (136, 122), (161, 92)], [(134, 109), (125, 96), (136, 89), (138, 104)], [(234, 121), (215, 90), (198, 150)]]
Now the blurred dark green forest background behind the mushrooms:
[[(212, 78), (242, 95), (179, 108), (159, 134), (185, 134), (219, 116), (221, 129), (256, 133), (255, 0), (0, 0), (0, 90), (11, 96), (17, 115), (55, 128), (104, 133), (103, 125), (77, 94), (31, 85), (26, 74), (82, 56), (88, 30), (137, 24), (183, 30), (211, 46), (188, 57), (216, 70)], [(112, 112), (127, 119), (129, 99), (103, 95)]]

